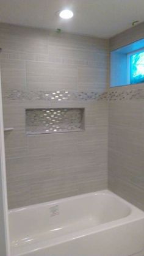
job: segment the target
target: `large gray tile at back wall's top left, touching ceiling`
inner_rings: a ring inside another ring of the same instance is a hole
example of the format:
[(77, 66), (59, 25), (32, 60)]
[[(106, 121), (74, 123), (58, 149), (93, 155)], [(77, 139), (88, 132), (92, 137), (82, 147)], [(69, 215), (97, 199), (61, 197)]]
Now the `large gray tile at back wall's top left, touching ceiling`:
[(43, 29), (0, 24), (3, 51), (48, 54), (48, 32)]

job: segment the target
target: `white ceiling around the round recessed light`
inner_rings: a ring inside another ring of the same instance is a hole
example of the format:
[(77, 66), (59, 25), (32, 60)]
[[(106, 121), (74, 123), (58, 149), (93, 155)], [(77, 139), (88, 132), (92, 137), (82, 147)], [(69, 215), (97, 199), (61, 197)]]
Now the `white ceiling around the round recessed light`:
[[(71, 9), (74, 17), (56, 14)], [(144, 0), (0, 0), (0, 22), (109, 38), (144, 21)]]

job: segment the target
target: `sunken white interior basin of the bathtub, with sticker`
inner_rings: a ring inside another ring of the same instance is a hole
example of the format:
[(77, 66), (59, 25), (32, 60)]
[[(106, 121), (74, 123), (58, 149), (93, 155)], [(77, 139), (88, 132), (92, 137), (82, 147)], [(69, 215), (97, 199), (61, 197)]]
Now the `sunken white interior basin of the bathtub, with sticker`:
[(130, 213), (123, 200), (106, 191), (14, 209), (9, 211), (10, 241), (16, 247), (51, 240)]

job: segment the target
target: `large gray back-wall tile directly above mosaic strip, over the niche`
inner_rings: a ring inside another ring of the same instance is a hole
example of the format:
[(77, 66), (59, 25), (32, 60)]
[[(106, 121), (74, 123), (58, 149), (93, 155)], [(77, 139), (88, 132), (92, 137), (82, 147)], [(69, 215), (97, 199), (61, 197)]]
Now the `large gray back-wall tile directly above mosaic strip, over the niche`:
[(29, 90), (77, 90), (74, 65), (26, 62), (26, 78)]

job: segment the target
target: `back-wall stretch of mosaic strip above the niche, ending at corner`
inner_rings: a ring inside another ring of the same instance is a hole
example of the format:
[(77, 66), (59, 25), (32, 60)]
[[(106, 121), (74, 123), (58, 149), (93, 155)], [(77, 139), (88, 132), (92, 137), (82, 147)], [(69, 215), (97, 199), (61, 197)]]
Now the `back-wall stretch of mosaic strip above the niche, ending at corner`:
[(3, 93), (7, 100), (47, 100), (47, 101), (68, 101), (68, 100), (107, 100), (107, 92), (68, 92), (68, 91), (23, 91), (9, 90)]

